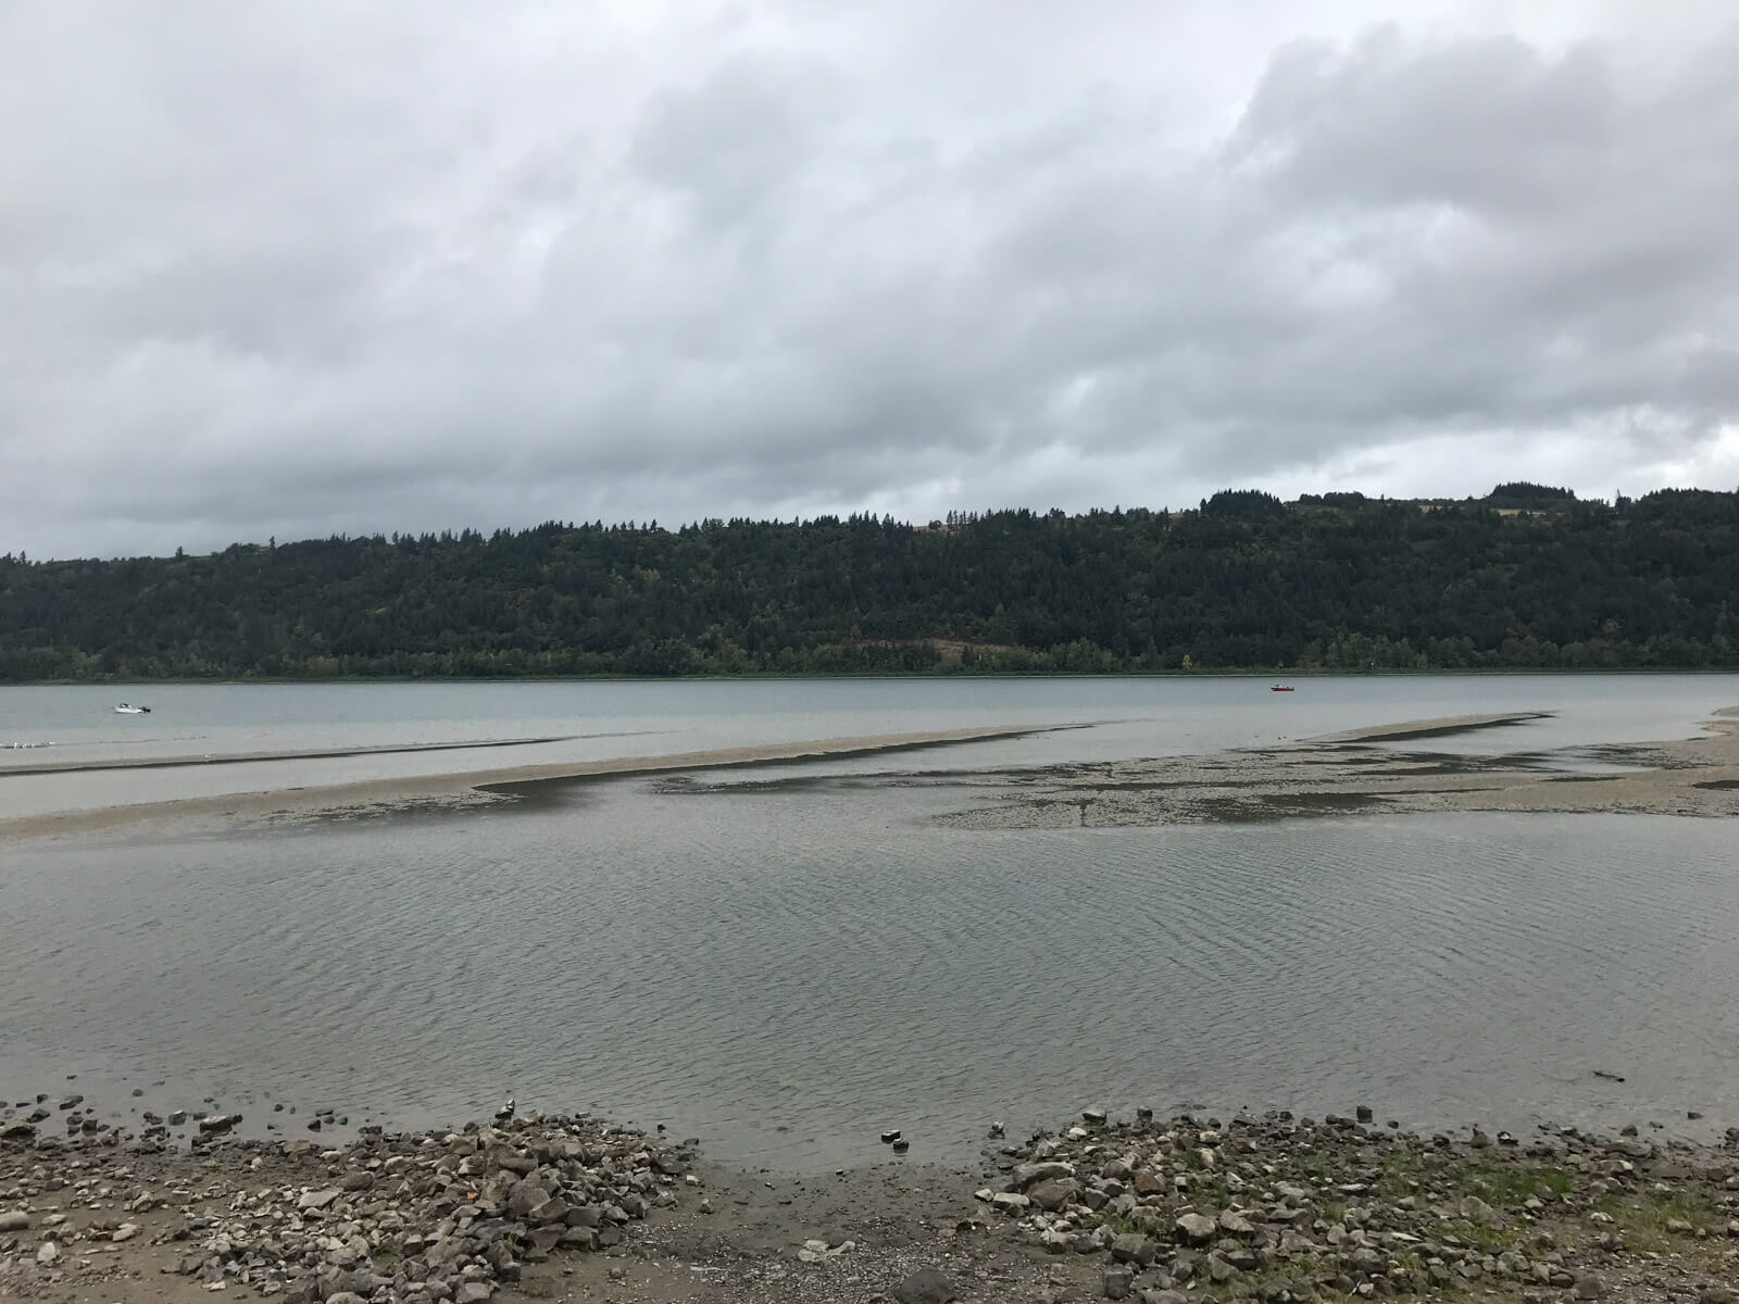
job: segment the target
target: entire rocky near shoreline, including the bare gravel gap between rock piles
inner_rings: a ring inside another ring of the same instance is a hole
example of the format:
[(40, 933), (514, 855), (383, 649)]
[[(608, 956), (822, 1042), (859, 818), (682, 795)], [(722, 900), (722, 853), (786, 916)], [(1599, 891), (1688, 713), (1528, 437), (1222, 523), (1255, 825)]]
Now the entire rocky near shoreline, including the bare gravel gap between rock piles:
[(772, 1179), (584, 1116), (341, 1144), (235, 1139), (219, 1116), (191, 1149), (42, 1121), (0, 1123), (0, 1297), (1739, 1299), (1739, 1130), (1452, 1139), (1367, 1109), (1087, 1111), (993, 1141), (977, 1179), (904, 1160)]

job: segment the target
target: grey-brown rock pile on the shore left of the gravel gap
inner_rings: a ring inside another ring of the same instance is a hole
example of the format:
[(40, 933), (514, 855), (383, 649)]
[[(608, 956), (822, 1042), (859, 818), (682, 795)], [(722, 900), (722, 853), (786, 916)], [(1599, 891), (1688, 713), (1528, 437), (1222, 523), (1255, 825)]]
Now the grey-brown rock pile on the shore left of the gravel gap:
[[(290, 1304), (483, 1304), (525, 1264), (621, 1245), (673, 1205), (687, 1151), (591, 1118), (529, 1114), (341, 1146), (160, 1134), (38, 1137), (0, 1127), (0, 1294), (111, 1280), (115, 1247), (167, 1247), (162, 1271)], [(690, 1177), (690, 1181), (696, 1181)], [(155, 1217), (153, 1217), (155, 1215)]]

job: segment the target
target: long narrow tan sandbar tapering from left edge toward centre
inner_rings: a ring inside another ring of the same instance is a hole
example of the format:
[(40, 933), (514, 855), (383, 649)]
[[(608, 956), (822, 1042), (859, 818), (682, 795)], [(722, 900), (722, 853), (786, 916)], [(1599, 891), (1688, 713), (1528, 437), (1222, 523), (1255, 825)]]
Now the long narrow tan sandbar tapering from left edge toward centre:
[[(1066, 729), (1068, 725), (1061, 725)], [(426, 805), (468, 805), (506, 802), (534, 784), (668, 774), (673, 770), (711, 770), (734, 765), (866, 756), (958, 742), (1023, 737), (1059, 729), (1057, 725), (943, 729), (916, 734), (876, 734), (870, 737), (835, 737), (809, 742), (770, 742), (753, 748), (715, 748), (670, 756), (616, 756), (598, 762), (558, 762), (550, 765), (513, 765), (496, 770), (466, 770), (362, 782), (292, 788), (268, 793), (197, 796), (176, 802), (64, 810), (0, 821), (0, 842), (38, 838), (61, 833), (115, 829), (143, 821), (163, 819), (264, 819), (271, 815), (323, 815), (363, 810), (391, 810)]]

